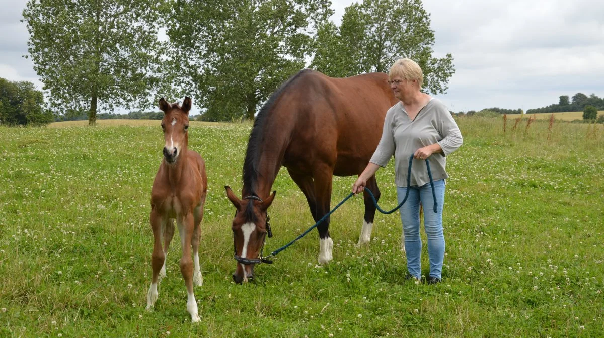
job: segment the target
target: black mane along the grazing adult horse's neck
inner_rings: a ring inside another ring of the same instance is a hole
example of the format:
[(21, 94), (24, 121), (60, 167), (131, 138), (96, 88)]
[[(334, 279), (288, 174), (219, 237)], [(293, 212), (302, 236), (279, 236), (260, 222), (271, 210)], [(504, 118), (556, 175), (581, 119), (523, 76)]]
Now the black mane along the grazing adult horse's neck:
[[(245, 160), (243, 161), (243, 187), (247, 188), (248, 194), (253, 196), (256, 195), (256, 185), (258, 182), (258, 161), (260, 159), (260, 144), (263, 140), (263, 136), (265, 133), (265, 124), (267, 120), (267, 115), (271, 111), (272, 107), (275, 104), (275, 101), (283, 94), (283, 91), (288, 88), (290, 84), (292, 84), (295, 80), (297, 80), (301, 75), (306, 74), (308, 72), (312, 72), (310, 69), (304, 69), (303, 71), (298, 72), (298, 74), (289, 78), (289, 80), (285, 81), (281, 86), (275, 91), (271, 97), (269, 97), (268, 101), (262, 106), (260, 112), (256, 116), (254, 121), (254, 127), (252, 127), (252, 132), (249, 133), (248, 140), (248, 149), (245, 153)], [(242, 196), (246, 197), (246, 196)], [(251, 206), (252, 203), (248, 205)]]

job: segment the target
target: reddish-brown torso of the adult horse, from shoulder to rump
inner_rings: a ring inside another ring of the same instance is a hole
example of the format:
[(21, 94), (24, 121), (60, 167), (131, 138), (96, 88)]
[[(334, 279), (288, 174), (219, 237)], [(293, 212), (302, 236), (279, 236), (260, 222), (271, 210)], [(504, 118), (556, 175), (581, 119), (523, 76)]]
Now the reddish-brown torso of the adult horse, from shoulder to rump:
[(377, 147), (387, 110), (396, 103), (388, 75), (332, 78), (316, 71), (298, 75), (300, 79), (283, 93), (290, 114), (294, 110), (298, 117), (286, 156), (301, 162), (294, 158), (309, 156), (304, 154), (312, 148), (334, 174), (360, 173)]

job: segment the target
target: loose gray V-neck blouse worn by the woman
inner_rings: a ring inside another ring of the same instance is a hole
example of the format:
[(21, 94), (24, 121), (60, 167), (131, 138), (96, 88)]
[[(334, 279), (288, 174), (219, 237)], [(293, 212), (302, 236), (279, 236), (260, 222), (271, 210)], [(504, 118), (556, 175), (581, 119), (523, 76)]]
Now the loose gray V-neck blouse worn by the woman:
[[(429, 158), (434, 180), (449, 177), (446, 155), (457, 150), (462, 143), (461, 132), (453, 120), (449, 109), (440, 100), (431, 100), (411, 121), (403, 104), (399, 101), (386, 113), (382, 139), (377, 145), (370, 162), (385, 167), (394, 155), (394, 182), (398, 187), (406, 187), (409, 158), (417, 149), (438, 143), (443, 153), (434, 153)], [(413, 159), (411, 166), (411, 186), (421, 186), (430, 182), (426, 164)]]

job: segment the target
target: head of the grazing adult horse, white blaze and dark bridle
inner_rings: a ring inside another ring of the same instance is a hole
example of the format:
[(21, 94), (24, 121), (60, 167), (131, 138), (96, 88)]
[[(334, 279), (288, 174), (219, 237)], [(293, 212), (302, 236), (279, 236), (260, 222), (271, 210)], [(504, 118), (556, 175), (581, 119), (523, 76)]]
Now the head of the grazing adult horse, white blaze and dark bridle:
[(233, 273), (233, 281), (237, 284), (254, 278), (254, 266), (260, 263), (260, 255), (269, 228), (266, 209), (271, 206), (277, 191), (266, 200), (255, 195), (237, 198), (230, 187), (226, 186), (226, 197), (237, 209), (233, 218), (233, 245), (237, 268)]

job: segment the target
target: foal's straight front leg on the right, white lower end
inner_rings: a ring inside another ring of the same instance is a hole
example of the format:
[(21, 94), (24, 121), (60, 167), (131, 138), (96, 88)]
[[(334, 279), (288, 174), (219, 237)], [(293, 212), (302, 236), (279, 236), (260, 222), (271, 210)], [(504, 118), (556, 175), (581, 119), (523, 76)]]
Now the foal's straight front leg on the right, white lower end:
[(193, 240), (194, 215), (191, 210), (178, 217), (178, 234), (181, 237), (182, 258), (181, 273), (187, 287), (187, 312), (191, 314), (191, 322), (201, 320), (198, 314), (197, 302), (193, 293), (193, 260), (191, 259), (191, 241)]

